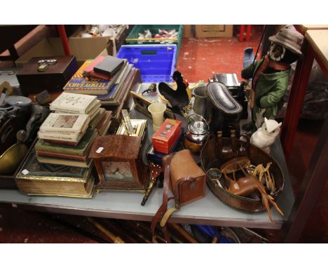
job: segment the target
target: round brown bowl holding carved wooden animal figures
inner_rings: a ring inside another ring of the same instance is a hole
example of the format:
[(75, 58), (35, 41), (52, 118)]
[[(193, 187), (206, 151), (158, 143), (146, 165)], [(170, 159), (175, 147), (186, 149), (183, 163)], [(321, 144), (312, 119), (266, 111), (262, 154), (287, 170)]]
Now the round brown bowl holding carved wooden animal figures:
[[(221, 138), (221, 140), (221, 147), (231, 146), (231, 138)], [(242, 156), (249, 157), (250, 162), (254, 166), (257, 166), (262, 163), (265, 167), (266, 163), (272, 163), (269, 171), (274, 176), (276, 191), (271, 196), (273, 196), (276, 201), (279, 194), (282, 192), (285, 181), (284, 175), (279, 164), (270, 155), (266, 154), (266, 152), (247, 142), (235, 140), (235, 147), (236, 152), (240, 152), (240, 147), (244, 148), (245, 151), (243, 151)], [(228, 158), (224, 158), (222, 157), (220, 152), (221, 148), (219, 146), (217, 136), (214, 134), (210, 134), (207, 138), (207, 142), (205, 143), (202, 151), (200, 152), (200, 158), (205, 173), (207, 173), (207, 170), (209, 170), (210, 168), (220, 168), (223, 163), (226, 163), (226, 161), (231, 160), (235, 157), (230, 156)], [(240, 156), (240, 153), (238, 156)], [(232, 174), (229, 174), (229, 176), (233, 178)], [(236, 177), (242, 177), (242, 173), (236, 173)], [(228, 188), (228, 182), (224, 178), (224, 175), (221, 176), (219, 182), (221, 183), (222, 187), (219, 187), (219, 185), (217, 185), (207, 175), (207, 185), (210, 187), (213, 194), (215, 194), (215, 196), (217, 196), (222, 202), (226, 203), (228, 206), (250, 213), (266, 211), (266, 208), (264, 207), (261, 201), (261, 196), (259, 194), (254, 193), (246, 197), (237, 196), (226, 191), (225, 188)]]

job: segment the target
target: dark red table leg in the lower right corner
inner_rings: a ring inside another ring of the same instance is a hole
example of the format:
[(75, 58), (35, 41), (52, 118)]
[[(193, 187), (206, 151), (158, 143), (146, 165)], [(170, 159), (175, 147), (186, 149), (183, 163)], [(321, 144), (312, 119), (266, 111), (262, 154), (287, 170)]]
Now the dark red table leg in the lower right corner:
[(285, 243), (297, 243), (301, 237), (308, 217), (315, 207), (317, 198), (322, 192), (327, 181), (327, 159), (328, 159), (328, 119), (324, 121), (319, 140), (311, 156), (306, 175), (303, 178), (301, 189), (296, 196), (292, 212), (287, 223), (282, 227), (285, 229)]

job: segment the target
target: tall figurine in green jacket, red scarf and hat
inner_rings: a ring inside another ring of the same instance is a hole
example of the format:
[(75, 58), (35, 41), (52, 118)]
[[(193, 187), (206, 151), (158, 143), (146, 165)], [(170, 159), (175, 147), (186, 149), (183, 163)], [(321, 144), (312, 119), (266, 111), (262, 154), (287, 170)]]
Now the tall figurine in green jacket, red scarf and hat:
[(241, 72), (243, 79), (252, 79), (252, 123), (242, 126), (252, 132), (261, 127), (264, 118), (275, 119), (287, 91), (290, 65), (302, 56), (303, 36), (292, 25), (280, 29), (269, 41), (267, 55)]

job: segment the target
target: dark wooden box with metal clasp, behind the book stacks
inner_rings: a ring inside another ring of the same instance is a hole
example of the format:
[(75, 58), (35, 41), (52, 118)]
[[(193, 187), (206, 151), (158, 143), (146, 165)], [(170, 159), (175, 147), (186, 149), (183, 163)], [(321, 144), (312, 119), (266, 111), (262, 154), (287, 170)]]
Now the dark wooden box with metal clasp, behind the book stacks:
[[(55, 59), (57, 63), (50, 65), (45, 72), (38, 72), (39, 60)], [(32, 58), (17, 74), (22, 93), (41, 91), (61, 91), (67, 81), (78, 69), (75, 56), (52, 56)]]

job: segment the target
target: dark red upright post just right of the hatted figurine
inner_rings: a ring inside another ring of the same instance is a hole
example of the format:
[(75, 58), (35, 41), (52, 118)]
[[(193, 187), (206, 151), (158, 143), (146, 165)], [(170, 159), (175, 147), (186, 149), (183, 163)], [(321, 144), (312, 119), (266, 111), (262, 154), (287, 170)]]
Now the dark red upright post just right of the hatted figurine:
[(308, 43), (304, 43), (304, 45), (304, 58), (296, 64), (285, 120), (282, 125), (281, 141), (286, 159), (288, 159), (290, 150), (292, 149), (314, 59), (313, 49)]

